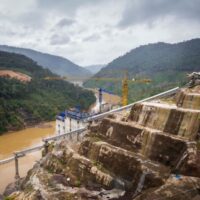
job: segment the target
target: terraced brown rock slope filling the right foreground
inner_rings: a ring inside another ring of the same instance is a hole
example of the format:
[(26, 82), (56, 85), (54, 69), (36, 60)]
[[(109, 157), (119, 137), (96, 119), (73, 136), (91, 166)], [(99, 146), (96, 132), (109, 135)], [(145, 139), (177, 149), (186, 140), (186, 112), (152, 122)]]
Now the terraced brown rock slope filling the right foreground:
[(56, 142), (10, 197), (200, 199), (199, 134), (198, 86), (174, 102), (136, 104), (90, 124), (81, 142)]

